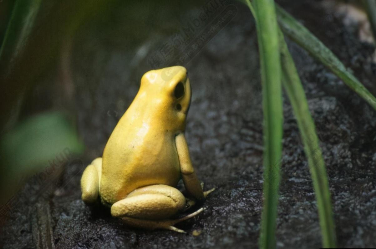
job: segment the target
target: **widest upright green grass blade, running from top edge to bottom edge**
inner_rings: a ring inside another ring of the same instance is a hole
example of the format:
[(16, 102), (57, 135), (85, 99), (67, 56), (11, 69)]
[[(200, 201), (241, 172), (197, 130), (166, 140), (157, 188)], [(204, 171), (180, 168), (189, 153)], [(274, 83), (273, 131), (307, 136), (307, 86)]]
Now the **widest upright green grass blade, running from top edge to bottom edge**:
[(282, 155), (282, 87), (278, 25), (273, 0), (255, 0), (264, 110), (264, 208), (261, 217), (261, 248), (275, 248), (279, 171)]

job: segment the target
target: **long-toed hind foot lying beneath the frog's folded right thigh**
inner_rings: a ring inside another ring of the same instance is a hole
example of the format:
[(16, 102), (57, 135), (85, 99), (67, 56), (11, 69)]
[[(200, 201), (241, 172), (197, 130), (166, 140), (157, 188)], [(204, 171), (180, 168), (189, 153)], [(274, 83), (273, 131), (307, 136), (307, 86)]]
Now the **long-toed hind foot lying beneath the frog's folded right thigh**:
[(138, 227), (138, 228), (144, 228), (144, 229), (168, 229), (171, 231), (175, 231), (178, 233), (185, 233), (184, 230), (176, 228), (174, 225), (176, 223), (182, 222), (183, 220), (190, 219), (193, 216), (196, 216), (197, 214), (201, 213), (204, 211), (205, 208), (200, 208), (199, 210), (188, 214), (187, 216), (184, 216), (180, 219), (176, 220), (143, 220), (143, 219), (135, 219), (135, 218), (130, 218), (130, 217), (122, 217), (121, 219), (130, 226), (133, 227)]

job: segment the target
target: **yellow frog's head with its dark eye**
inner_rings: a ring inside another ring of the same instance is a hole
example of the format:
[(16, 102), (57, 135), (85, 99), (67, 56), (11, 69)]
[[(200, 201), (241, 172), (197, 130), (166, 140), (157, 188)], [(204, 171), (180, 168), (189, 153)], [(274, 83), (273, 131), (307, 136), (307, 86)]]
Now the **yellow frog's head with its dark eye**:
[(187, 71), (183, 66), (146, 72), (141, 78), (139, 93), (147, 96), (159, 117), (177, 127), (185, 126), (192, 94)]

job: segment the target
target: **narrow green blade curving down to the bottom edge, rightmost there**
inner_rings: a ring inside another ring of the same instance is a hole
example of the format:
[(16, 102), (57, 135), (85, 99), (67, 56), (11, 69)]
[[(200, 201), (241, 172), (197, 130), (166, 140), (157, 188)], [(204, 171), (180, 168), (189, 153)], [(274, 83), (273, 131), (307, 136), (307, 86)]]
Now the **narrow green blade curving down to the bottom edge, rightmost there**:
[(321, 155), (315, 123), (308, 109), (307, 99), (296, 67), (288, 51), (282, 31), (279, 30), (280, 52), (282, 66), (282, 84), (290, 99), (308, 157), (315, 189), (318, 214), (320, 218), (321, 236), (324, 248), (334, 248), (336, 245), (335, 228), (326, 166)]

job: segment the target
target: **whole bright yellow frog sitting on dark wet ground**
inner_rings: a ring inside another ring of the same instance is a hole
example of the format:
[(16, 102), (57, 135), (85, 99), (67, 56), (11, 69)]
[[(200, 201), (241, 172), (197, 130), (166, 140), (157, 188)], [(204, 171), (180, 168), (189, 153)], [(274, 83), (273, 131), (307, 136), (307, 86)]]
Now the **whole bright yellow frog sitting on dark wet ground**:
[(175, 187), (183, 179), (188, 194), (202, 199), (203, 192), (191, 163), (184, 130), (191, 102), (191, 86), (182, 66), (152, 70), (141, 78), (140, 89), (112, 132), (103, 157), (82, 174), (82, 200), (100, 200), (111, 214), (129, 225), (165, 228), (182, 219), (171, 216), (194, 204)]

